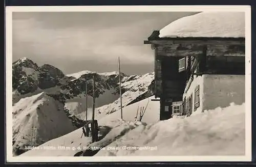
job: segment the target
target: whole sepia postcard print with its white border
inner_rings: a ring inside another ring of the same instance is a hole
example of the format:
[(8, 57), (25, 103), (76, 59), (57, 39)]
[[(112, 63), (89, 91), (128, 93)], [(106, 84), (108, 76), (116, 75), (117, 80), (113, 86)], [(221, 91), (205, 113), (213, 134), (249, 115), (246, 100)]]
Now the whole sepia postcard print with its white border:
[(251, 160), (250, 7), (6, 13), (9, 161)]

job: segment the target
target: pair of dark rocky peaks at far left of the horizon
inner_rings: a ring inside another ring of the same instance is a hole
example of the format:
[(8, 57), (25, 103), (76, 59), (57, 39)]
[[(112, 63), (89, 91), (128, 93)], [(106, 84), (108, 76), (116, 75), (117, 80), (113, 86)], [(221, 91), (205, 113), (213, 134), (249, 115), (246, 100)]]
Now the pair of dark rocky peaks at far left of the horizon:
[(28, 58), (12, 64), (12, 88), (22, 95), (60, 85), (64, 76), (58, 68), (48, 64), (38, 67)]

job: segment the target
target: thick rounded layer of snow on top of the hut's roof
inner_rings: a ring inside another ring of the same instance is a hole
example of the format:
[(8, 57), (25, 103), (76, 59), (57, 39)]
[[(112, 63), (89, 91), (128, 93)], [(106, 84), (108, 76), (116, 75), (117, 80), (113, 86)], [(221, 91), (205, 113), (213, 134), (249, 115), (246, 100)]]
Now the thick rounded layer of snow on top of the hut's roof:
[(245, 37), (244, 12), (201, 12), (163, 27), (159, 37)]

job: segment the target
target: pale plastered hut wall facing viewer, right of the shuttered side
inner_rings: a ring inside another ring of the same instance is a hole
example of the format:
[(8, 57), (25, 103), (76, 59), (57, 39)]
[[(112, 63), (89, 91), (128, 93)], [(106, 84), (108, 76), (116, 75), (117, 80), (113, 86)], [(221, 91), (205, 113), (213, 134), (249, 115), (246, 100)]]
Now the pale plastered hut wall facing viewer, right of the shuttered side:
[(244, 75), (203, 75), (203, 109), (226, 107), (231, 102), (241, 105), (245, 102)]

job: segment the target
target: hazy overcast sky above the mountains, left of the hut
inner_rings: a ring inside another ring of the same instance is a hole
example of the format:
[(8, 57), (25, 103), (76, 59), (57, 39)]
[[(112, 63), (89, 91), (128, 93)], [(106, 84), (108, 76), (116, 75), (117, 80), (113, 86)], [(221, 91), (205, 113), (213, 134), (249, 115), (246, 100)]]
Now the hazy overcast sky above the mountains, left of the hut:
[(144, 40), (193, 12), (13, 12), (13, 62), (27, 57), (65, 74), (82, 70), (144, 74), (154, 52)]

